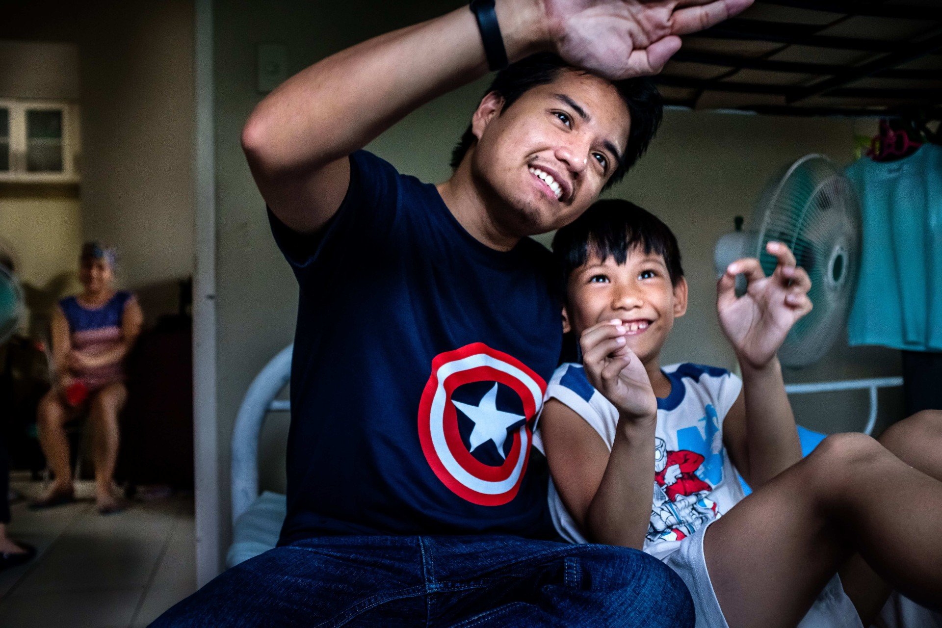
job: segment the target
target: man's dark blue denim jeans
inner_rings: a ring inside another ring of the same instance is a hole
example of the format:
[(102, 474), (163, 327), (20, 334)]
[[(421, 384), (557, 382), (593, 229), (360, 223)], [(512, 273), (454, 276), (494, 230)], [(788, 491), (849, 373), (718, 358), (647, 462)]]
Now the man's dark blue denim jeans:
[(680, 578), (608, 545), (509, 536), (327, 537), (256, 556), (164, 626), (693, 626)]

